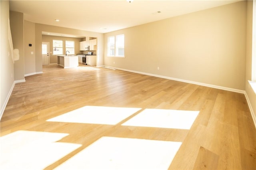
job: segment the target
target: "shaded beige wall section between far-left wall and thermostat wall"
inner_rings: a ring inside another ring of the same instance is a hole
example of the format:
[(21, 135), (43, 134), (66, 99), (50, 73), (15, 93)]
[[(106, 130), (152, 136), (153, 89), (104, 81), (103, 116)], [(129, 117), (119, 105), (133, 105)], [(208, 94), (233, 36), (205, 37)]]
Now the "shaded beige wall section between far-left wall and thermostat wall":
[(24, 80), (24, 19), (23, 13), (10, 11), (13, 48), (19, 50), (20, 58), (14, 61), (14, 80)]

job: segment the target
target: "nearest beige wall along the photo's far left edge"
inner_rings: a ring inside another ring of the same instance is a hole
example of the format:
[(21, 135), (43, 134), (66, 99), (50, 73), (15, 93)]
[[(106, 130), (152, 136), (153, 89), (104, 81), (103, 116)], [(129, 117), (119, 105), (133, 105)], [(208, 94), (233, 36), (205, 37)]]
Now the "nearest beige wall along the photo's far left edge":
[(0, 118), (14, 84), (14, 63), (8, 40), (9, 1), (0, 1)]

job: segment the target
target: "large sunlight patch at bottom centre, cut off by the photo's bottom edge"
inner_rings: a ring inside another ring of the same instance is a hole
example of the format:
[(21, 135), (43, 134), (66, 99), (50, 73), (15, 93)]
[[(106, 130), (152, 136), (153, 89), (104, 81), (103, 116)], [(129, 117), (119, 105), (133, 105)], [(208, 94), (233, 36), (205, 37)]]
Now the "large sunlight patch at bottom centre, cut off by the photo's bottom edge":
[(168, 169), (182, 142), (103, 136), (58, 170)]

